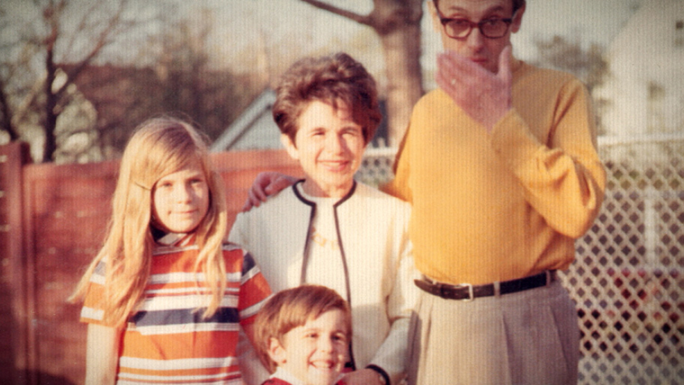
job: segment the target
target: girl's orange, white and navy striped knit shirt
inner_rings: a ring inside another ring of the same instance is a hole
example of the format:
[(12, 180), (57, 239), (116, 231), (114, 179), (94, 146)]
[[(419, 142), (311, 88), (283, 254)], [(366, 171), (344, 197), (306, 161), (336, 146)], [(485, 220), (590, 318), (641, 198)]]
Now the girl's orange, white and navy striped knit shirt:
[[(214, 316), (203, 318), (210, 290), (203, 273), (194, 271), (197, 255), (192, 235), (157, 240), (143, 299), (122, 333), (117, 384), (242, 384), (239, 327), (253, 323), (271, 290), (251, 255), (225, 244), (223, 302)], [(104, 273), (101, 263), (91, 278), (82, 322), (104, 325), (99, 305), (106, 300)]]

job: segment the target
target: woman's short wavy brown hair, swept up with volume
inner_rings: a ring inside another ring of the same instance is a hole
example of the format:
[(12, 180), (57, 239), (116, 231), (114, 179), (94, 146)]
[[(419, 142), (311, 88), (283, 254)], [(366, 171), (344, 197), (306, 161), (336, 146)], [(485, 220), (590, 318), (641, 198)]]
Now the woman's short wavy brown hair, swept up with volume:
[(375, 79), (346, 53), (299, 60), (285, 71), (275, 92), (273, 120), (292, 143), (296, 143), (298, 119), (311, 101), (335, 109), (343, 103), (351, 110), (354, 123), (361, 126), (365, 144), (373, 139), (382, 120)]

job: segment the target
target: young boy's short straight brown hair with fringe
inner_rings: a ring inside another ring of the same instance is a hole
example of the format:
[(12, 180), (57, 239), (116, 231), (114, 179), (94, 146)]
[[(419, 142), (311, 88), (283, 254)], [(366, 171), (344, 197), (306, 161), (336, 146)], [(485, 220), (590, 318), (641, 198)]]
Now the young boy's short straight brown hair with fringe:
[(352, 314), (349, 305), (333, 289), (305, 284), (279, 291), (269, 298), (257, 315), (254, 332), (257, 354), (268, 371), (273, 373), (277, 367), (268, 355), (271, 339), (282, 343), (287, 332), (331, 310), (343, 311), (348, 341), (351, 341)]

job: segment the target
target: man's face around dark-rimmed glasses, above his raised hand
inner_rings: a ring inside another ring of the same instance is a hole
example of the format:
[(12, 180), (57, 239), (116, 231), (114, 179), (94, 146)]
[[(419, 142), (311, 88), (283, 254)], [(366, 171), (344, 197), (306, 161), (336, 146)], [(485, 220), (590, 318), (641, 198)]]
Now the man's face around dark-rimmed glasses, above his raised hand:
[[(513, 15), (513, 0), (439, 0), (439, 12), (448, 19), (468, 19), (481, 22), (487, 19), (508, 19)], [(434, 28), (442, 37), (445, 50), (456, 51), (494, 73), (499, 71), (499, 55), (511, 44), (511, 33), (518, 32), (524, 13), (524, 6), (515, 13), (508, 32), (496, 39), (484, 37), (478, 28), (472, 28), (468, 37), (454, 39), (445, 33), (434, 2), (429, 2)]]

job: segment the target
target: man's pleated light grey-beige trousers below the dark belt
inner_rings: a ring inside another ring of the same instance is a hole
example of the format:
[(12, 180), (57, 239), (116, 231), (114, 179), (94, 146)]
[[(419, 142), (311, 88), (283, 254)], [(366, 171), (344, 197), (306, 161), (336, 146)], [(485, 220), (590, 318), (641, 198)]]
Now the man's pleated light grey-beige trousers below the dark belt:
[(578, 322), (557, 281), (472, 302), (420, 291), (409, 330), (409, 385), (574, 385)]

